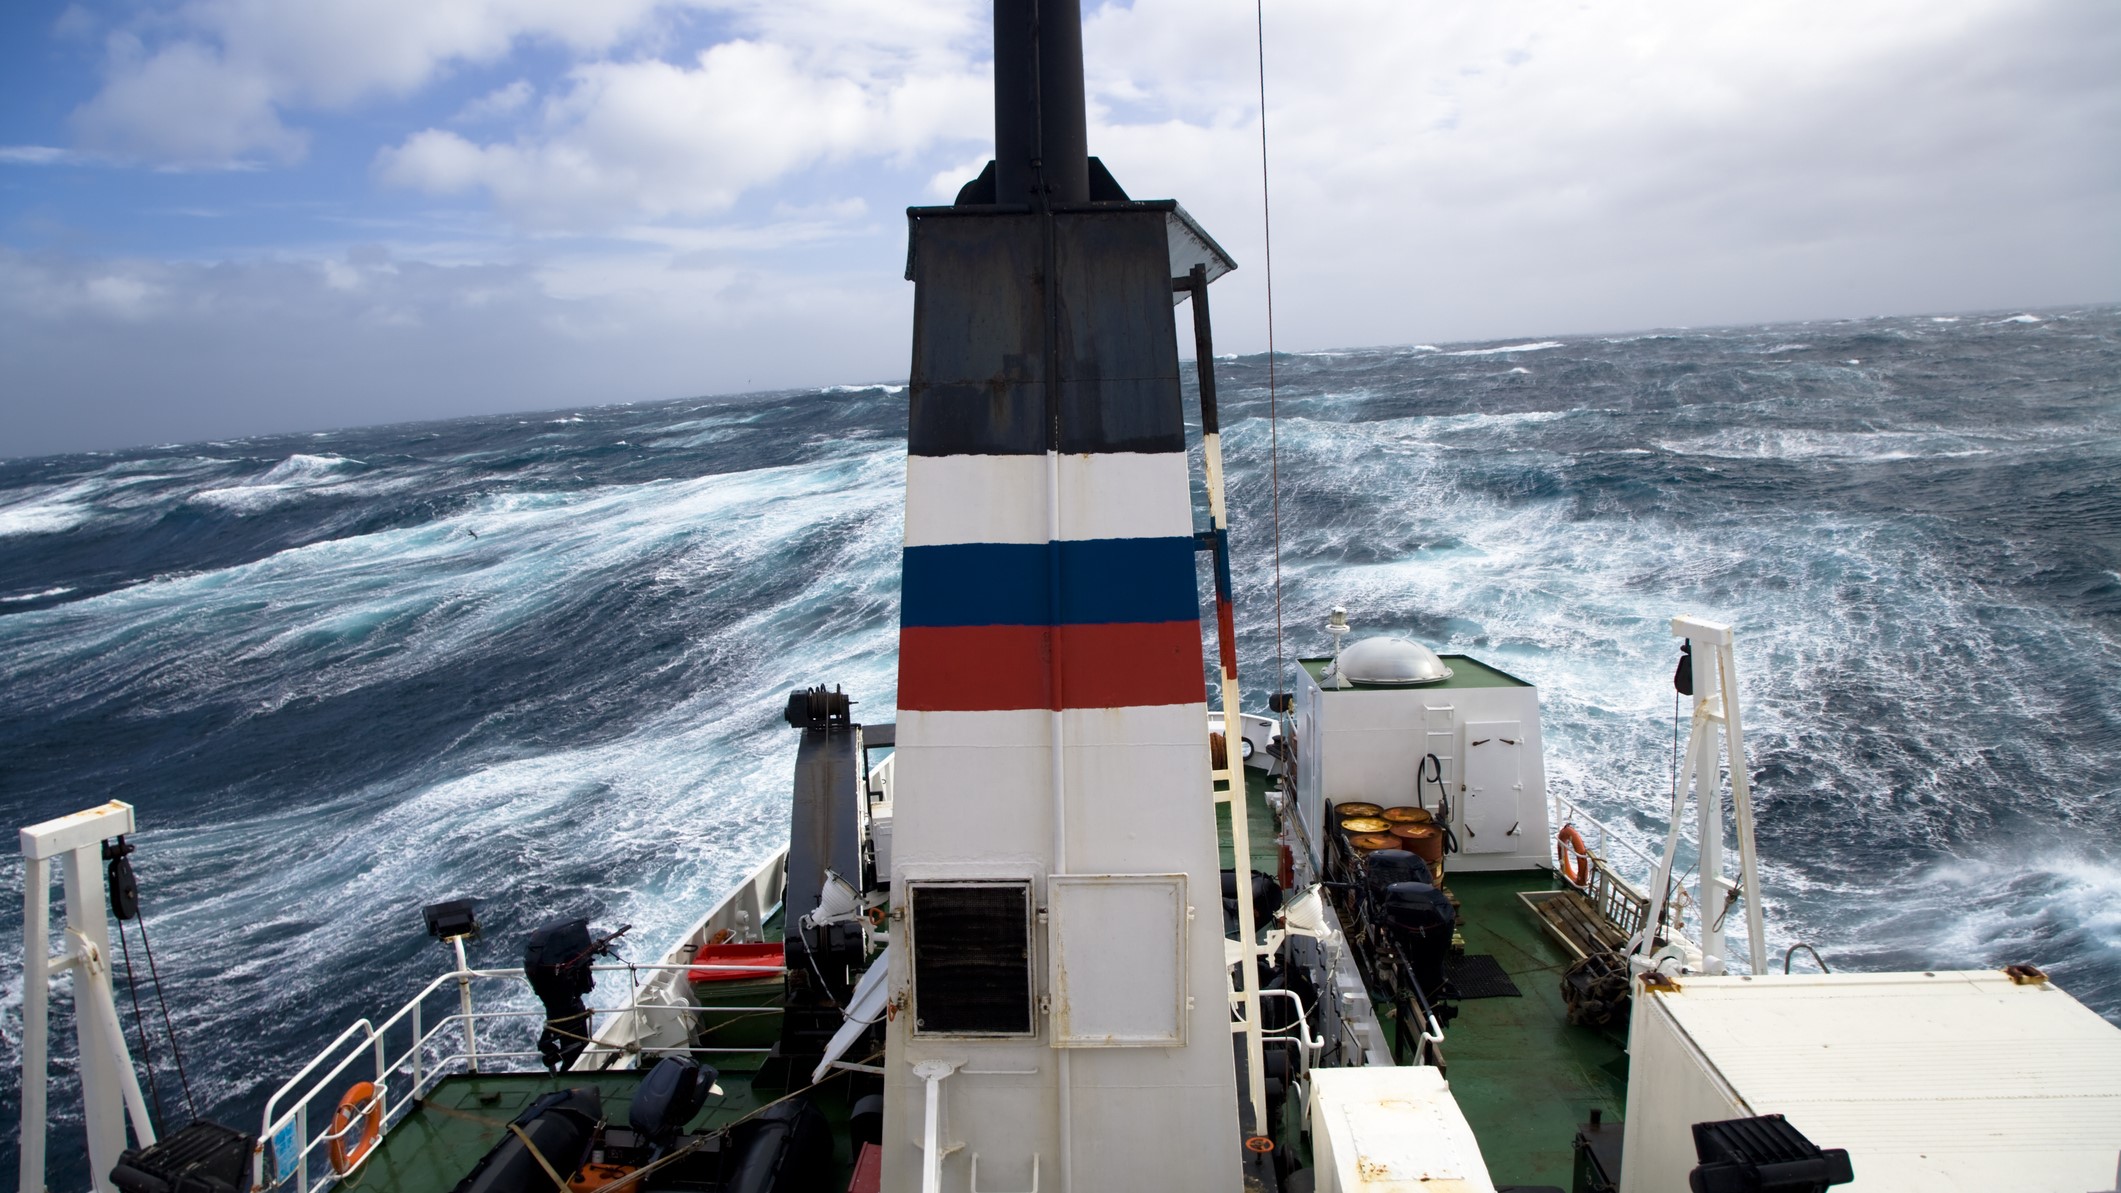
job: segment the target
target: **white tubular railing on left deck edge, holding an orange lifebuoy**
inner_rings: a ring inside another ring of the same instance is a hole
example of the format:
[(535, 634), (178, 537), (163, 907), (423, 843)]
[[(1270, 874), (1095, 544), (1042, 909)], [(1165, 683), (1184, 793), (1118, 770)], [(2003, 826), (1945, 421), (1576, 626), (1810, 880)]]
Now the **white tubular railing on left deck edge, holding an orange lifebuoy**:
[[(728, 970), (755, 974), (764, 966), (759, 964), (604, 964), (592, 966), (598, 974), (628, 974), (628, 989), (636, 993), (641, 989), (641, 974), (664, 974), (664, 972), (685, 972), (685, 970)], [(367, 1131), (367, 1121), (373, 1114), (378, 1123), (378, 1140), (392, 1125), (397, 1125), (416, 1104), (424, 1097), (441, 1078), (460, 1072), (537, 1072), (543, 1068), (543, 1059), (534, 1047), (511, 1047), (520, 1040), (509, 1036), (522, 1036), (524, 1040), (534, 1040), (537, 1030), (545, 1023), (545, 1010), (541, 1008), (518, 1008), (505, 1006), (496, 1010), (479, 1010), (477, 993), (481, 987), (490, 989), (494, 983), (509, 983), (511, 993), (520, 993), (528, 987), (524, 972), (520, 968), (509, 970), (473, 970), (458, 968), (435, 976), (426, 983), (418, 996), (411, 998), (397, 1015), (384, 1019), (382, 1023), (371, 1023), (369, 1019), (354, 1021), (352, 1027), (339, 1032), (325, 1051), (316, 1055), (308, 1066), (301, 1068), (286, 1085), (282, 1085), (265, 1102), (265, 1112), (259, 1121), (259, 1146), (252, 1155), (252, 1189), (278, 1189), (293, 1182), (293, 1189), (301, 1193), (322, 1191), (335, 1185), (344, 1176), (352, 1176), (361, 1170), (373, 1151), (358, 1151), (358, 1144)], [(428, 1023), (426, 1010), (428, 1000), (439, 993), (458, 993), (460, 989), (473, 991), (464, 1006), (471, 1006), (467, 1015), (460, 1006), (452, 1006), (448, 1015)], [(753, 1015), (753, 1013), (778, 1013), (778, 1006), (670, 1006), (670, 1004), (649, 1004), (643, 1006), (638, 998), (628, 998), (624, 1006), (598, 1008), (592, 1006), (592, 1017), (636, 1017), (643, 1010), (653, 1010), (660, 1015), (668, 1013), (689, 1013), (689, 1015)], [(501, 1036), (488, 1036), (488, 1047), (479, 1044), (479, 1023), (524, 1023), (522, 1032), (503, 1030)], [(638, 1027), (634, 1032), (638, 1038)], [(390, 1042), (401, 1040), (403, 1051), (390, 1053)], [(503, 1047), (490, 1047), (490, 1044)], [(588, 1042), (583, 1047), (581, 1059), (573, 1066), (577, 1070), (585, 1068), (609, 1068), (626, 1055), (638, 1055), (641, 1049), (632, 1047), (611, 1047), (602, 1042)], [(647, 1049), (649, 1053), (691, 1053), (691, 1055), (721, 1055), (721, 1053), (764, 1053), (768, 1049), (706, 1049), (706, 1047), (658, 1047)], [(526, 1064), (528, 1061), (528, 1064)], [(312, 1080), (312, 1074), (318, 1074)], [(354, 1089), (354, 1085), (367, 1083), (373, 1093), (365, 1097), (348, 1123), (337, 1123), (337, 1112), (341, 1108), (341, 1093)], [(299, 1089), (299, 1093), (297, 1093)], [(293, 1100), (288, 1100), (293, 1095)], [(286, 1108), (282, 1108), (282, 1104)], [(329, 1110), (327, 1110), (329, 1108)], [(325, 1112), (322, 1121), (314, 1112)], [(337, 1170), (333, 1161), (333, 1144), (344, 1142), (337, 1148), (346, 1159), (346, 1172)], [(380, 1146), (380, 1144), (378, 1144)]]

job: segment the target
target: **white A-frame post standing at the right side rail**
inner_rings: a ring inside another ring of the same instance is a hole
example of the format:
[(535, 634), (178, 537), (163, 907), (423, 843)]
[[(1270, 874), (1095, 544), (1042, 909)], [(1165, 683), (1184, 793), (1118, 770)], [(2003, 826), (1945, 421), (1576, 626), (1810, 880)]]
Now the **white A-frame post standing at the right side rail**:
[[(1667, 915), (1671, 870), (1680, 849), (1680, 824), (1686, 817), (1686, 792), (1695, 800), (1695, 841), (1701, 843), (1695, 887), (1695, 909), (1701, 917), (1701, 972), (1724, 972), (1729, 955), (1724, 913), (1733, 898), (1746, 904), (1746, 955), (1752, 972), (1767, 972), (1767, 923), (1760, 913), (1760, 858), (1752, 843), (1752, 773), (1746, 762), (1746, 728), (1737, 705), (1737, 660), (1731, 652), (1733, 633), (1722, 622), (1703, 618), (1671, 618), (1671, 637), (1693, 643), (1695, 715), (1686, 734), (1686, 758), (1680, 783), (1671, 792), (1671, 822), (1665, 828), (1665, 853), (1650, 879), (1650, 913), (1644, 921), (1637, 957), (1657, 951), (1659, 923)], [(1739, 881), (1724, 877), (1722, 771), (1729, 743), (1731, 807), (1737, 822)]]

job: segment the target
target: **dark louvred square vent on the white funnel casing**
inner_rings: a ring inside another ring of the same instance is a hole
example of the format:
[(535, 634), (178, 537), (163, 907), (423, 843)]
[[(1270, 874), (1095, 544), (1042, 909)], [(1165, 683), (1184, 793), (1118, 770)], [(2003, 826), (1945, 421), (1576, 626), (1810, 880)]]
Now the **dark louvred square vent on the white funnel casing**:
[(910, 883), (914, 1034), (1029, 1036), (1031, 883)]

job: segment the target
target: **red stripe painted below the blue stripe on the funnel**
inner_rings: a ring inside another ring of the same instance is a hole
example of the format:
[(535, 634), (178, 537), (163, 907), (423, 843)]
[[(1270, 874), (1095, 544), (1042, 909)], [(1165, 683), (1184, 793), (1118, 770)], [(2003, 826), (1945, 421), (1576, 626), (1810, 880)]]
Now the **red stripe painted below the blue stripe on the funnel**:
[[(1052, 692), (1056, 643), (1058, 701)], [(1203, 701), (1200, 622), (899, 628), (901, 709), (980, 713)]]

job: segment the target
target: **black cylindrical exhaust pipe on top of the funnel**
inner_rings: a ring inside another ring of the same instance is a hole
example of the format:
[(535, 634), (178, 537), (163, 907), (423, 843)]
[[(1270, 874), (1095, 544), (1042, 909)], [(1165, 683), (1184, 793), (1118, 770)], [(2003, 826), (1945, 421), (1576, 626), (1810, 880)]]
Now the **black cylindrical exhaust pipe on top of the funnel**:
[(1080, 0), (995, 0), (995, 202), (1090, 202)]

